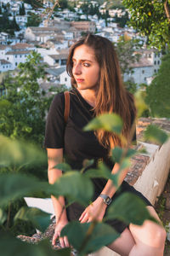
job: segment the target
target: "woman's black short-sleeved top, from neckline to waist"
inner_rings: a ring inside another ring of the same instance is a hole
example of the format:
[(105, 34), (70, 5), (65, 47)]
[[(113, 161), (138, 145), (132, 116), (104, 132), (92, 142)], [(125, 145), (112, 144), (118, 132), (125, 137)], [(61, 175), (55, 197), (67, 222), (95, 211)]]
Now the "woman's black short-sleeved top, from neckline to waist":
[[(109, 158), (109, 150), (101, 146), (94, 131), (83, 131), (83, 127), (94, 118), (93, 107), (88, 104), (77, 89), (70, 92), (70, 113), (65, 124), (65, 95), (61, 92), (54, 96), (48, 111), (45, 134), (46, 148), (64, 148), (66, 162), (73, 170), (81, 170), (83, 160), (94, 159), (94, 165), (103, 160), (112, 170), (114, 163)], [(104, 188), (104, 178), (93, 179), (95, 189)]]

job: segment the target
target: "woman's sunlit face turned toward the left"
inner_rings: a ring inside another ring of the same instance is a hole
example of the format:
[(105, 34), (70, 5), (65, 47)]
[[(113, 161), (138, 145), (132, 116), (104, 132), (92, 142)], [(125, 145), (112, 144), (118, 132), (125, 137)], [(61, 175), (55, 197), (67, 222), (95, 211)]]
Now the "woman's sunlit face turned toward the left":
[(96, 90), (99, 85), (99, 63), (94, 49), (85, 44), (78, 46), (72, 56), (72, 74), (80, 90)]

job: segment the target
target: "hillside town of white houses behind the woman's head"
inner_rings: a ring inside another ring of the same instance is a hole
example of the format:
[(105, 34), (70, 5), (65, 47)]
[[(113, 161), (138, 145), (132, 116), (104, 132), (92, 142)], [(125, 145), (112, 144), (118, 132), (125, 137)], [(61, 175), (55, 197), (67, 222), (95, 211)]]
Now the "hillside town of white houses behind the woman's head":
[(62, 84), (69, 88), (71, 81), (65, 70), (68, 50), (85, 32), (108, 38), (115, 45), (125, 35), (139, 40), (142, 44), (138, 49), (139, 61), (129, 63), (132, 72), (123, 74), (124, 81), (150, 84), (157, 73), (161, 52), (146, 49), (146, 38), (141, 38), (127, 24), (120, 26), (120, 20), (128, 19), (126, 9), (107, 9), (107, 2), (99, 5), (97, 1), (90, 2), (91, 12), (81, 1), (76, 1), (76, 6), (70, 9), (64, 6), (57, 10), (51, 1), (43, 1), (42, 7), (35, 9), (25, 2), (29, 1), (0, 0), (0, 19), (6, 19), (5, 23), (8, 19), (11, 28), (1, 26), (0, 30), (0, 73), (14, 71), (20, 62), (26, 62), (31, 51), (37, 51), (47, 67), (47, 81), (40, 81), (43, 88)]

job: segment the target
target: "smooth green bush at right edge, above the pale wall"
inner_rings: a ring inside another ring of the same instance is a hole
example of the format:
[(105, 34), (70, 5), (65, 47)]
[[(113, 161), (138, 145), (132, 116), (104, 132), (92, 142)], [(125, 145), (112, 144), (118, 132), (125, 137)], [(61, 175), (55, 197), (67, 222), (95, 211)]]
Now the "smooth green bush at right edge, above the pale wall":
[(165, 55), (155, 79), (146, 89), (146, 102), (153, 117), (170, 118), (170, 53)]

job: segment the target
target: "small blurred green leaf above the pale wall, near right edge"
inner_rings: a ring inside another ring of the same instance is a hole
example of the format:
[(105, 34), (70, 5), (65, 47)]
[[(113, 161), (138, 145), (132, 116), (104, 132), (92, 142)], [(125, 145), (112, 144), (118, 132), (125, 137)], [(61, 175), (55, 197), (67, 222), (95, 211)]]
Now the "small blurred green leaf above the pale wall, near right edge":
[(165, 131), (162, 131), (156, 125), (148, 125), (144, 131), (144, 138), (150, 140), (150, 142), (159, 143), (161, 145), (167, 142), (168, 136)]

